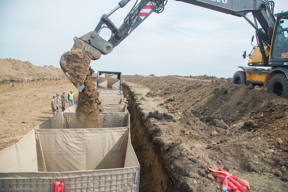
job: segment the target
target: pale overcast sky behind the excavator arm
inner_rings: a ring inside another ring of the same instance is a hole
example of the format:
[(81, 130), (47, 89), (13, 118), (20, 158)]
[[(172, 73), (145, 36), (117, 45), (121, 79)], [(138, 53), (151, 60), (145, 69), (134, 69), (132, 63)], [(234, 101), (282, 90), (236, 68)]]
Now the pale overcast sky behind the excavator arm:
[[(0, 58), (60, 68), (73, 38), (94, 28), (119, 0), (0, 0)], [(288, 11), (287, 0), (274, 0), (274, 13)], [(119, 27), (134, 5), (130, 1), (109, 18)], [(106, 40), (109, 35), (101, 31)], [(232, 77), (252, 50), (254, 28), (244, 19), (169, 0), (108, 55), (92, 61), (94, 71), (122, 75), (213, 75)], [(254, 40), (254, 42), (256, 42)], [(255, 43), (254, 43), (255, 44)]]

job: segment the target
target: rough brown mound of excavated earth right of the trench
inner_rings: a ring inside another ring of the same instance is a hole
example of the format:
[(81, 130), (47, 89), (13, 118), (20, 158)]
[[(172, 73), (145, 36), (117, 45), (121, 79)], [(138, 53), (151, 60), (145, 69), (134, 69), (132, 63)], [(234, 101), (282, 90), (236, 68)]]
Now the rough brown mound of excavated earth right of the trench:
[[(204, 184), (211, 179), (207, 167), (224, 167), (250, 179), (253, 191), (261, 182), (253, 183), (251, 174), (287, 182), (287, 99), (207, 75), (124, 75), (122, 82), (141, 110), (154, 104), (145, 112), (147, 134), (167, 174), (177, 178), (183, 191), (210, 191)], [(133, 107), (137, 105), (130, 104), (129, 110)], [(165, 119), (168, 115), (173, 119)], [(142, 153), (144, 149), (138, 155)], [(279, 191), (287, 189), (283, 185)]]

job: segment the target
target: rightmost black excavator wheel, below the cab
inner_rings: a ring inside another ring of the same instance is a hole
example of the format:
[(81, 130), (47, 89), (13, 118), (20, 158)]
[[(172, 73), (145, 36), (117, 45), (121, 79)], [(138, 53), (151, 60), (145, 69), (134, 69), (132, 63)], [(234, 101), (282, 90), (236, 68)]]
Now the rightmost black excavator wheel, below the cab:
[(268, 83), (268, 93), (288, 98), (288, 79), (283, 73), (274, 75)]

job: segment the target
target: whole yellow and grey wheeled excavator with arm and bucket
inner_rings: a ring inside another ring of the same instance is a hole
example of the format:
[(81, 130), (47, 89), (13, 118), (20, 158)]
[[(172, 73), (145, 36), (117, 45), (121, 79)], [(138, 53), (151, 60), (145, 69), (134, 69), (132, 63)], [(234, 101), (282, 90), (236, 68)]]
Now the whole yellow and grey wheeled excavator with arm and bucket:
[[(94, 29), (82, 37), (74, 37), (71, 51), (60, 59), (60, 66), (70, 81), (81, 92), (91, 60), (112, 52), (152, 13), (161, 13), (168, 0), (141, 0), (134, 3), (120, 27), (109, 16), (131, 0), (121, 0), (108, 14), (103, 14)], [(175, 0), (205, 7), (225, 14), (243, 17), (255, 29), (257, 44), (250, 54), (248, 66), (233, 75), (233, 83), (268, 86), (268, 92), (288, 98), (288, 11), (274, 14), (274, 1), (268, 0)], [(252, 15), (250, 20), (247, 15)], [(100, 37), (103, 28), (111, 30), (108, 40)], [(254, 35), (252, 37), (252, 42)], [(251, 42), (251, 44), (252, 44)], [(263, 68), (266, 67), (266, 68)]]

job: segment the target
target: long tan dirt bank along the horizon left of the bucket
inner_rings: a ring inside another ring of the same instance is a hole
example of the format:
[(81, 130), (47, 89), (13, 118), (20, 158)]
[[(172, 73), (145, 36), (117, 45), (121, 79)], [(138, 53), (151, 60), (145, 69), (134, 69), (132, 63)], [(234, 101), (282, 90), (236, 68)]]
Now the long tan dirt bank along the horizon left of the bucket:
[(52, 65), (40, 67), (28, 61), (0, 58), (0, 69), (0, 91), (69, 81), (61, 69)]

